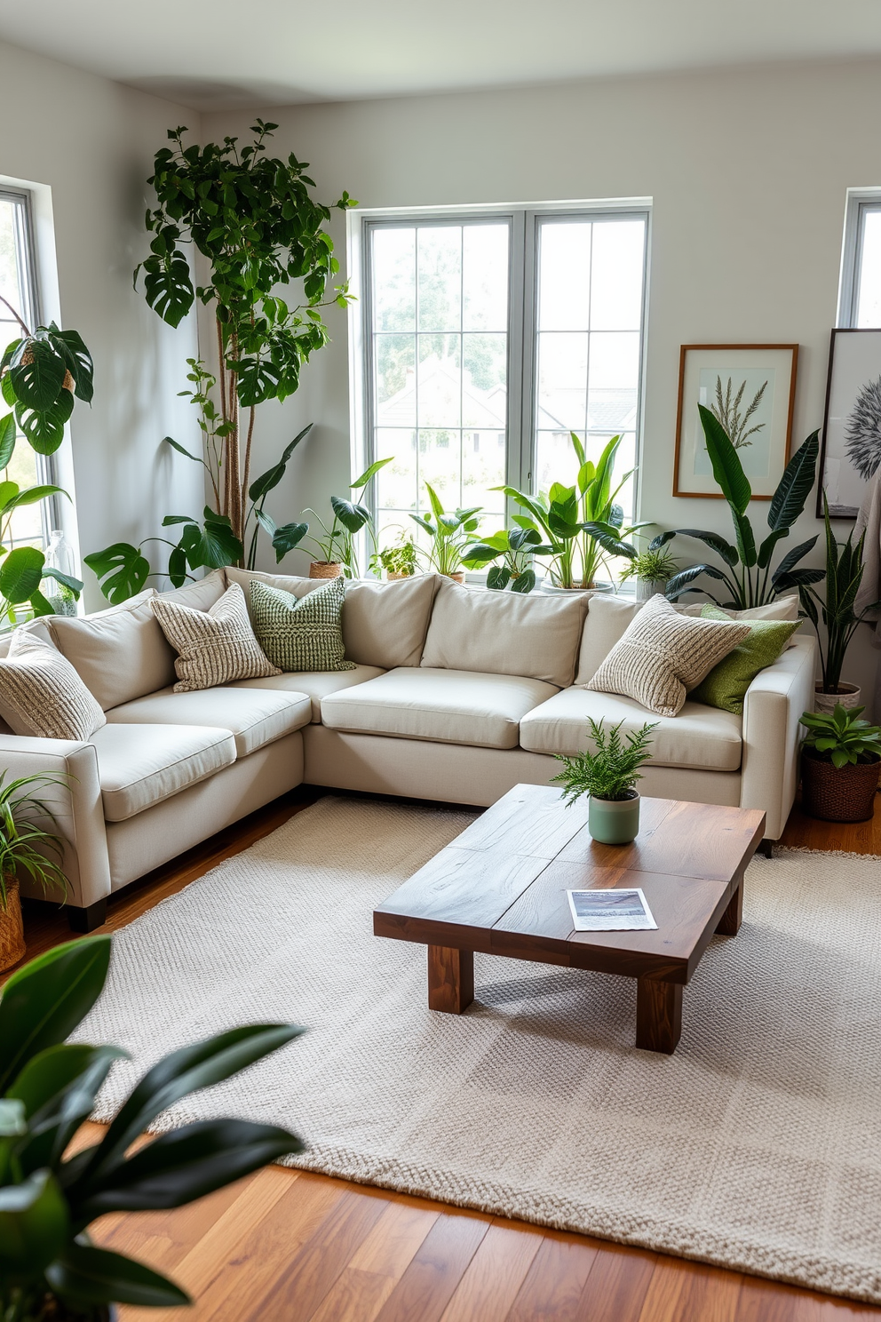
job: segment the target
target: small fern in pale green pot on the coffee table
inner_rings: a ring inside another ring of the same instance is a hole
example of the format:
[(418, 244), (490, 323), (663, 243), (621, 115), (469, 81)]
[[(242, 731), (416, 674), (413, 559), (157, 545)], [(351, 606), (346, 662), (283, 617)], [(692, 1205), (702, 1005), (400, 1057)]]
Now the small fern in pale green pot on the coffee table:
[(563, 771), (553, 776), (563, 788), (567, 804), (582, 795), (590, 796), (588, 830), (604, 845), (629, 845), (639, 834), (639, 795), (637, 781), (642, 780), (639, 767), (649, 761), (654, 724), (621, 738), (619, 720), (605, 731), (602, 722), (590, 719), (590, 738), (596, 752), (580, 752), (561, 758)]

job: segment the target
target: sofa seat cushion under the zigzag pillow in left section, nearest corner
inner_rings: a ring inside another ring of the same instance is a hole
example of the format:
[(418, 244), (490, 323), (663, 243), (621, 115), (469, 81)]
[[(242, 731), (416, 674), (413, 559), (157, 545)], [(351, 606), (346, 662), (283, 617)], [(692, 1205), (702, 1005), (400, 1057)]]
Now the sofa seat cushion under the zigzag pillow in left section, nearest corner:
[(232, 732), (238, 758), (300, 730), (310, 717), (312, 699), (305, 693), (232, 687), (195, 693), (164, 689), (107, 713), (111, 724), (219, 726)]

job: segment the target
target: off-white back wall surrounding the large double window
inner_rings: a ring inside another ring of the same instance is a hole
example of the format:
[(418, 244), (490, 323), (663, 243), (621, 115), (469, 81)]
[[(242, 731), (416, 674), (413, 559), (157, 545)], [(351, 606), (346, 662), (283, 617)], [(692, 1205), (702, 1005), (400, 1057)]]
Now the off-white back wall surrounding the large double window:
[[(670, 494), (680, 344), (798, 341), (794, 446), (822, 426), (845, 189), (881, 184), (881, 62), (276, 107), (272, 119), (273, 149), (310, 161), (326, 201), (343, 188), (371, 208), (654, 198), (642, 518), (729, 531), (720, 502)], [(202, 123), (206, 137), (244, 135), (250, 116)], [(334, 234), (342, 249), (341, 225)], [(346, 483), (346, 325), (332, 321), (299, 395), (260, 424), (268, 463), (317, 423), (276, 493), (280, 520)], [(794, 535), (820, 529), (811, 501)], [(866, 685), (873, 669), (864, 639), (848, 677)]]

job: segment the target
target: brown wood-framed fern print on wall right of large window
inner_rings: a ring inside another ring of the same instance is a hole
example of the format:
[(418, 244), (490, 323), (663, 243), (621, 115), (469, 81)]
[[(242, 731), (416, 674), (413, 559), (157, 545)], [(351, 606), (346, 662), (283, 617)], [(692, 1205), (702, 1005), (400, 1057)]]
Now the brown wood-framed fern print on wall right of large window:
[(697, 405), (732, 439), (754, 500), (770, 500), (790, 457), (796, 344), (684, 344), (674, 496), (722, 500), (713, 479)]

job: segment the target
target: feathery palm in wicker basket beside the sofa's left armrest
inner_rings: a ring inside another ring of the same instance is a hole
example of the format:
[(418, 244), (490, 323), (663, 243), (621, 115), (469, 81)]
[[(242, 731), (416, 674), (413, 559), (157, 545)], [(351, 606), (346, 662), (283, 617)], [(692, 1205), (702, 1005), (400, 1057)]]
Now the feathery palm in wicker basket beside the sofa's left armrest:
[[(7, 781), (0, 772), (0, 973), (12, 968), (25, 953), (21, 921), (22, 876), (36, 882), (44, 895), (59, 892), (63, 899), (67, 878), (61, 870), (63, 846), (61, 837), (46, 830), (42, 822), (54, 825), (52, 808), (33, 791), (40, 787), (62, 784), (54, 776), (18, 776)], [(0, 1314), (1, 1315), (1, 1314)]]

